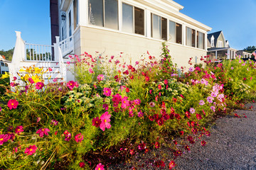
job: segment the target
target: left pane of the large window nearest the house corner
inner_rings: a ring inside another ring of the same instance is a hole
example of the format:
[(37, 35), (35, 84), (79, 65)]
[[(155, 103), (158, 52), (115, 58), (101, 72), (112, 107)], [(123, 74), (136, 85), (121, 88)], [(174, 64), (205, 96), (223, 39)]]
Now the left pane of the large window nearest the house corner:
[(88, 1), (89, 23), (103, 26), (103, 0)]

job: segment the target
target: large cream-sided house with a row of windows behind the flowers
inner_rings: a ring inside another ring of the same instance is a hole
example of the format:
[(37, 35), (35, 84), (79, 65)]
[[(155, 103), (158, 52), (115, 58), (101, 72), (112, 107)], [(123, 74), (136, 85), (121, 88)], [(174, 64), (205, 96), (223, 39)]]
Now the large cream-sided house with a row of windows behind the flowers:
[(171, 0), (50, 0), (52, 41), (60, 36), (63, 57), (123, 52), (132, 64), (146, 51), (161, 55), (166, 41), (174, 62), (188, 66), (190, 57), (206, 56), (211, 28), (181, 9)]

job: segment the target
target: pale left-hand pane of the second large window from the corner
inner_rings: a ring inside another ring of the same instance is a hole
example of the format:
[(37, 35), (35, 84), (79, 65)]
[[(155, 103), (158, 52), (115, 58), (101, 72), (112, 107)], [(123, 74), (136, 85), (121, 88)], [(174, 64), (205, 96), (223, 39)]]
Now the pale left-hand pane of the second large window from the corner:
[(133, 30), (133, 6), (122, 4), (122, 30), (134, 33)]

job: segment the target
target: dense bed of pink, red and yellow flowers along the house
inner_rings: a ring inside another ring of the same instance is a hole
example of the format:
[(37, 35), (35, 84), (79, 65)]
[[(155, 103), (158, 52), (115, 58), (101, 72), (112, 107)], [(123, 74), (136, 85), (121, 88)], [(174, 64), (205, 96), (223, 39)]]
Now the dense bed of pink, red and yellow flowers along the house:
[(174, 160), (154, 165), (173, 169), (193, 143), (207, 145), (201, 136), (210, 136), (216, 114), (254, 97), (251, 61), (213, 65), (202, 57), (204, 67), (178, 71), (165, 45), (160, 61), (148, 52), (134, 66), (114, 56), (72, 59), (78, 82), (46, 85), (50, 69), (29, 67), (21, 76), (26, 86), (14, 78), (13, 92), (1, 96), (1, 169), (106, 169), (110, 155), (126, 160), (180, 136)]

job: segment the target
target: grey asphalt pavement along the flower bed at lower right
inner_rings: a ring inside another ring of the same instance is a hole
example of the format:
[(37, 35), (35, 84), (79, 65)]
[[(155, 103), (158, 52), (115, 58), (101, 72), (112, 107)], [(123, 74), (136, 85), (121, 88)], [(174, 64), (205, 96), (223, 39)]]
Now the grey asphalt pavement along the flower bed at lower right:
[[(235, 118), (225, 116), (216, 121), (213, 125), (210, 137), (206, 138), (208, 144), (202, 147), (196, 142), (191, 147), (191, 152), (184, 152), (182, 157), (175, 159), (176, 170), (206, 170), (206, 169), (245, 169), (256, 170), (256, 103), (245, 105), (252, 110), (237, 110), (238, 115), (247, 118)], [(165, 159), (168, 169), (169, 160), (173, 153), (168, 147), (154, 149), (150, 154), (139, 154), (134, 158), (133, 164), (119, 164), (109, 169), (160, 169), (154, 166), (153, 162), (157, 159)], [(144, 164), (144, 166), (141, 166)]]

